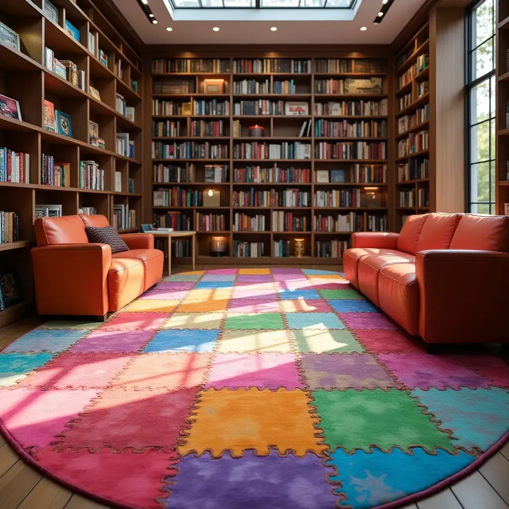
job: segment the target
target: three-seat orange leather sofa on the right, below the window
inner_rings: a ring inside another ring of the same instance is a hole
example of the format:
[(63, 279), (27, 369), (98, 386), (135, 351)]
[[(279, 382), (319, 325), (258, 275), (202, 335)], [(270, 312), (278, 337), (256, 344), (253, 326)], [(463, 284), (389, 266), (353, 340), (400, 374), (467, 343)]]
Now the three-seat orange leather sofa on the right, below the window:
[(509, 217), (410, 216), (401, 233), (354, 233), (345, 277), (427, 343), (509, 342)]

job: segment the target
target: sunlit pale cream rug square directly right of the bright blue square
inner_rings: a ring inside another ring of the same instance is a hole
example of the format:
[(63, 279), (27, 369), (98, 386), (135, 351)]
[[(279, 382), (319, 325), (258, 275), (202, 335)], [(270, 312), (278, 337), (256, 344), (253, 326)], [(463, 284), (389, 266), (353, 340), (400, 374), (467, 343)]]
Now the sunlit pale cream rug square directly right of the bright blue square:
[(291, 351), (285, 330), (225, 330), (219, 340), (221, 353), (257, 353)]

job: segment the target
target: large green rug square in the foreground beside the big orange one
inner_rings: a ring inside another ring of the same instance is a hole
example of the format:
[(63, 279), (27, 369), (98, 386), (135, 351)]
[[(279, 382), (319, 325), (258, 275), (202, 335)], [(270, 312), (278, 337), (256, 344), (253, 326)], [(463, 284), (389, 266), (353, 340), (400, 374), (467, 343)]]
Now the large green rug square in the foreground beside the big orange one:
[[(317, 428), (323, 430), (330, 452), (342, 448), (346, 453), (370, 447), (388, 452), (400, 447), (409, 453), (410, 446), (420, 446), (433, 453), (436, 447), (454, 451), (447, 433), (440, 431), (432, 416), (406, 391), (398, 389), (375, 390), (317, 390), (313, 392), (321, 419)], [(339, 412), (345, 408), (348, 411)]]

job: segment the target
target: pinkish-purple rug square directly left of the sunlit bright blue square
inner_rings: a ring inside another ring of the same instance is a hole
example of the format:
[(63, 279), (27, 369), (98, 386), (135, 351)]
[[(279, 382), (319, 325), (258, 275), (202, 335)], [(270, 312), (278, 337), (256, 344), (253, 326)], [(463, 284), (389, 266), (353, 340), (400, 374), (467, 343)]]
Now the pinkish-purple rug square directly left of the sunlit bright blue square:
[(138, 352), (149, 341), (153, 330), (97, 330), (80, 340), (69, 351), (73, 353)]

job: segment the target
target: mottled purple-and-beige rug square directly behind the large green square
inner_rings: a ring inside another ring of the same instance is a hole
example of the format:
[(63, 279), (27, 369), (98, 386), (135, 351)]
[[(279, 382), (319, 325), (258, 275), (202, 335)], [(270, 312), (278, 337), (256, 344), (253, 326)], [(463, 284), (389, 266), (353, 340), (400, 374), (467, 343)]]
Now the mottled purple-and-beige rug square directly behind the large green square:
[(301, 366), (309, 390), (402, 387), (366, 353), (301, 354)]

